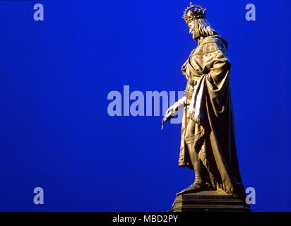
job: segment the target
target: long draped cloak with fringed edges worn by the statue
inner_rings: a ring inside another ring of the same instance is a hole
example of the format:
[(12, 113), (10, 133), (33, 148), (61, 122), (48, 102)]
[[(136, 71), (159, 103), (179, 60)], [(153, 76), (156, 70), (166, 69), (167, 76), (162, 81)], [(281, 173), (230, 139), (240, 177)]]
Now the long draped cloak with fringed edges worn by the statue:
[(243, 197), (234, 137), (230, 67), (227, 42), (219, 35), (200, 40), (182, 66), (187, 85), (179, 166), (193, 169), (184, 136), (189, 120), (194, 120), (195, 151), (210, 183), (234, 197)]

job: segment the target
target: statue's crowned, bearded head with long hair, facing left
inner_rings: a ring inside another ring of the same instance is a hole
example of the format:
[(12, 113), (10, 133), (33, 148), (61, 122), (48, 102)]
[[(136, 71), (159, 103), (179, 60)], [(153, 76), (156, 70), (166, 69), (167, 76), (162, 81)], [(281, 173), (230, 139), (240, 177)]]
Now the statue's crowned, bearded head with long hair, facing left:
[(190, 3), (183, 14), (183, 19), (189, 27), (189, 33), (194, 40), (200, 37), (215, 35), (217, 32), (211, 28), (210, 23), (206, 20), (206, 8)]

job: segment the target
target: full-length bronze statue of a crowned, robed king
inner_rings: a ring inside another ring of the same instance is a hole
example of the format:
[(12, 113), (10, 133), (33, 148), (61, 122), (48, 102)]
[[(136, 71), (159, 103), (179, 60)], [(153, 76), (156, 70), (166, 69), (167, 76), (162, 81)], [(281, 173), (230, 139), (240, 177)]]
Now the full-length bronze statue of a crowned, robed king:
[(190, 4), (183, 18), (198, 45), (182, 66), (187, 79), (184, 97), (167, 109), (162, 121), (184, 108), (179, 166), (193, 169), (195, 180), (177, 196), (217, 190), (242, 198), (227, 41), (211, 28), (202, 6)]

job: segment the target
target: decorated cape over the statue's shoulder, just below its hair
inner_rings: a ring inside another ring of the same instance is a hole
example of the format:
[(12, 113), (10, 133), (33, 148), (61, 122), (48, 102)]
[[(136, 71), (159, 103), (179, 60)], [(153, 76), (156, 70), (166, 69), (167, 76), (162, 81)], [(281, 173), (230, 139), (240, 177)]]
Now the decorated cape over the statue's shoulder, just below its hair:
[(205, 37), (201, 43), (199, 44), (201, 46), (201, 49), (203, 49), (203, 54), (208, 54), (215, 51), (222, 51), (223, 53), (227, 53), (227, 42), (225, 43), (222, 41), (222, 37), (219, 35), (211, 35), (208, 37)]

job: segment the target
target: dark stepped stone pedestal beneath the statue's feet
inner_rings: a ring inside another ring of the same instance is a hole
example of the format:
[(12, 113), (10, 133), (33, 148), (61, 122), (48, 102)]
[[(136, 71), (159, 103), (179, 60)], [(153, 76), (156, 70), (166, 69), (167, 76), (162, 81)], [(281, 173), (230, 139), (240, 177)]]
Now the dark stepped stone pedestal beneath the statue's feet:
[(233, 198), (223, 191), (201, 191), (176, 197), (172, 212), (250, 212), (242, 199)]

